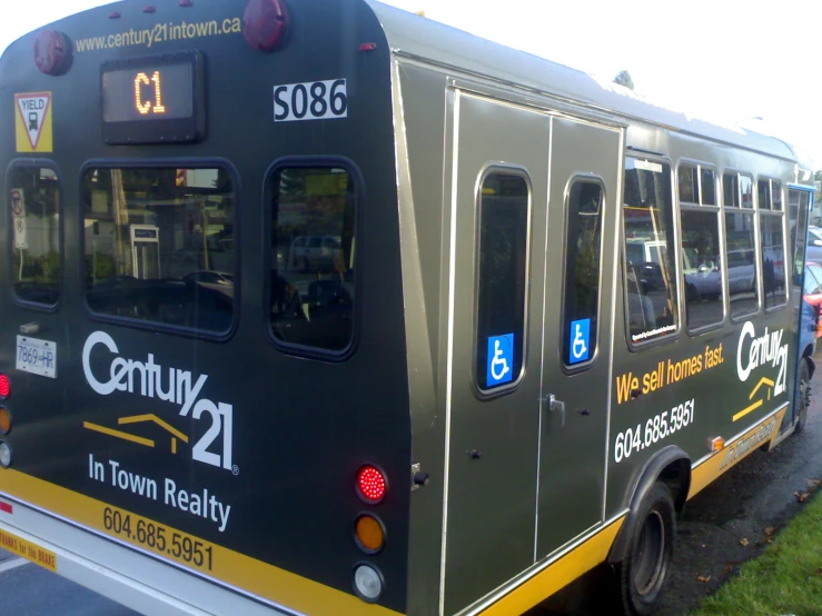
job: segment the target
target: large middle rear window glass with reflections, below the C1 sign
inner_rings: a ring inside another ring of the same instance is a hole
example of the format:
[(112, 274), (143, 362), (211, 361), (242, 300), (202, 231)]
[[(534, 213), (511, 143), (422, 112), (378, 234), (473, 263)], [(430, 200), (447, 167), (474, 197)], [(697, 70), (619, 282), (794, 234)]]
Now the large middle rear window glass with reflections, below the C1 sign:
[(82, 178), (86, 299), (95, 312), (226, 331), (234, 187), (221, 169), (91, 169)]

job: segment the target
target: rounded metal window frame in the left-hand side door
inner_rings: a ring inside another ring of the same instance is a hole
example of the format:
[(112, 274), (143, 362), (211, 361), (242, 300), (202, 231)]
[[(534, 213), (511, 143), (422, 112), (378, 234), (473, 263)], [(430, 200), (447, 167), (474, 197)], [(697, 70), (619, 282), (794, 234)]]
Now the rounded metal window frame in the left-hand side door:
[[(477, 375), (477, 348), (479, 345), (479, 255), (482, 250), (481, 237), (483, 228), (483, 185), (492, 173), (503, 173), (508, 176), (517, 176), (525, 180), (525, 187), (528, 190), (528, 201), (526, 206), (526, 225), (525, 225), (525, 297), (523, 305), (523, 361), (519, 367), (519, 374), (512, 378), (509, 382), (492, 389), (483, 389), (479, 387), (479, 376)], [(533, 209), (534, 209), (534, 185), (531, 180), (528, 170), (521, 165), (512, 165), (503, 161), (487, 162), (477, 175), (477, 181), (474, 189), (475, 226), (474, 226), (474, 297), (472, 299), (472, 351), (471, 351), (471, 379), (475, 395), (483, 401), (493, 400), (502, 396), (507, 396), (519, 388), (525, 372), (528, 367), (528, 331), (531, 317), (531, 296), (532, 289), (529, 285), (531, 277), (531, 259), (533, 257)]]

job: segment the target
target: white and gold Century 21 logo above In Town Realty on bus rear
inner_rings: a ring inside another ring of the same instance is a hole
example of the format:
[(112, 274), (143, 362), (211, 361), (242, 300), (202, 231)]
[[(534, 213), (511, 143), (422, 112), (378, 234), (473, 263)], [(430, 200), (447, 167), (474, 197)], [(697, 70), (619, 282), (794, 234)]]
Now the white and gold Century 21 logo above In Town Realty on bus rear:
[[(106, 347), (109, 352), (113, 354), (115, 357), (111, 359), (111, 365), (108, 370), (108, 375), (102, 376), (91, 371), (91, 352), (96, 346)], [(194, 376), (189, 370), (180, 370), (179, 368), (164, 368), (159, 364), (155, 364), (155, 356), (148, 354), (146, 361), (137, 361), (135, 359), (127, 359), (120, 357), (118, 354), (120, 350), (117, 348), (117, 344), (113, 338), (105, 331), (95, 331), (87, 339), (82, 347), (82, 370), (86, 374), (86, 380), (91, 386), (91, 389), (100, 394), (101, 396), (108, 396), (115, 391), (128, 391), (129, 394), (136, 394), (136, 381), (139, 381), (139, 395), (147, 398), (159, 398), (175, 405), (180, 406), (180, 416), (187, 417), (191, 413), (191, 417), (200, 419), (202, 414), (206, 413), (211, 416), (211, 427), (206, 430), (200, 439), (191, 447), (191, 457), (198, 461), (209, 464), (211, 466), (222, 467), (228, 470), (232, 470), (235, 474), (238, 471), (231, 463), (231, 441), (232, 441), (232, 426), (234, 426), (234, 407), (225, 403), (212, 403), (207, 398), (199, 398), (198, 396), (202, 390), (202, 387), (208, 380), (208, 375), (200, 375), (195, 381)], [(165, 377), (164, 375), (168, 375)], [(120, 424), (133, 424), (146, 418), (152, 418), (156, 423), (169, 429), (171, 434), (178, 435), (188, 440), (188, 438), (179, 433), (172, 426), (169, 426), (162, 419), (153, 415), (140, 415), (137, 417), (120, 418)], [(99, 429), (99, 426), (93, 424), (87, 426), (90, 429), (98, 429), (105, 434), (111, 436), (121, 435), (127, 440), (135, 443), (145, 441), (146, 439), (138, 439), (127, 433), (120, 433), (109, 428)], [(208, 448), (222, 434), (222, 456), (209, 451)], [(131, 438), (129, 438), (131, 436)], [(172, 451), (176, 453), (176, 440), (174, 444)]]

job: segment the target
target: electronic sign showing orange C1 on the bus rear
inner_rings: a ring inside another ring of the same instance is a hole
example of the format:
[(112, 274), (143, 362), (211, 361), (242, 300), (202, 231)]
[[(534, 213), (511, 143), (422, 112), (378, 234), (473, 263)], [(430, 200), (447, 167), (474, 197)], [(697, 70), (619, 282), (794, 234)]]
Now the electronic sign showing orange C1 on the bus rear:
[(107, 143), (186, 143), (204, 137), (199, 52), (106, 62), (100, 87)]

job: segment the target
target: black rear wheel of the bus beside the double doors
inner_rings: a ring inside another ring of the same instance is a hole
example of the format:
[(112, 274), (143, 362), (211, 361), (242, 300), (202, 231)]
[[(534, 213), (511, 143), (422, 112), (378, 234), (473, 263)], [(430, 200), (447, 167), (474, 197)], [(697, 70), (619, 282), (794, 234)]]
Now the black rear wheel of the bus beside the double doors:
[(646, 616), (660, 604), (674, 554), (676, 511), (671, 490), (657, 481), (636, 517), (631, 548), (616, 565), (617, 584), (625, 614)]

